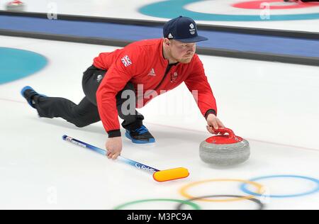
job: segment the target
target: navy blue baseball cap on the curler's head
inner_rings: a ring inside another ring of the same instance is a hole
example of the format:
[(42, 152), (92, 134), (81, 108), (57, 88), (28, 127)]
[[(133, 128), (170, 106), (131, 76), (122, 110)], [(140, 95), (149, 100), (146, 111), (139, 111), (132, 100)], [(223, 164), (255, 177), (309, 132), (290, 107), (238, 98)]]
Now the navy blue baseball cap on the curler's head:
[(163, 35), (164, 38), (178, 40), (183, 43), (208, 40), (197, 34), (197, 26), (194, 19), (184, 16), (173, 18), (165, 23)]

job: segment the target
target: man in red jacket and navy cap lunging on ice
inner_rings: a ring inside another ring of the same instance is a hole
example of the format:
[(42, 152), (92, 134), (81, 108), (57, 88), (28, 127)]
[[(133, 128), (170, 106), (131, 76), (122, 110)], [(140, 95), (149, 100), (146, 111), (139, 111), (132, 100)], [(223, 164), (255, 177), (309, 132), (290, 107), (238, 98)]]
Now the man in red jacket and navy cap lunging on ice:
[(164, 38), (142, 40), (121, 50), (101, 53), (84, 72), (85, 97), (77, 105), (63, 98), (38, 94), (30, 86), (21, 94), (40, 117), (60, 117), (84, 127), (102, 121), (108, 133), (108, 158), (121, 154), (122, 139), (118, 116), (124, 121), (125, 136), (135, 143), (155, 142), (142, 124), (141, 108), (159, 94), (186, 84), (206, 118), (207, 130), (224, 127), (216, 117), (216, 100), (205, 75), (203, 64), (195, 54), (196, 42), (207, 40), (197, 34), (193, 19), (179, 16), (165, 23)]

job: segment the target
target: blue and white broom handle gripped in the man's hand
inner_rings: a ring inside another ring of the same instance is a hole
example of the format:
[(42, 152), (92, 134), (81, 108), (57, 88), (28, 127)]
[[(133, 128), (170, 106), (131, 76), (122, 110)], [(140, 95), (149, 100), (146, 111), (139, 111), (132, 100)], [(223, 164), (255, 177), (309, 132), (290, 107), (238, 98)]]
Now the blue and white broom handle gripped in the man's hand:
[[(106, 153), (107, 153), (106, 150), (102, 150), (99, 147), (95, 147), (94, 145), (90, 145), (90, 144), (88, 144), (86, 142), (82, 142), (80, 140), (77, 140), (75, 138), (69, 137), (67, 135), (63, 135), (62, 139), (65, 140), (65, 141), (68, 141), (68, 142), (72, 142), (75, 145), (79, 145), (81, 147), (85, 147), (85, 148), (87, 148), (89, 150), (93, 150), (94, 152), (98, 152), (101, 155), (106, 155)], [(124, 162), (125, 164), (129, 164), (132, 167), (135, 167), (137, 169), (145, 170), (146, 172), (149, 172), (151, 174), (154, 174), (155, 172), (159, 171), (159, 169), (155, 169), (153, 167), (149, 167), (149, 166), (147, 166), (145, 164), (142, 164), (140, 162), (136, 162), (136, 161), (134, 161), (132, 159), (126, 159), (125, 157), (118, 156), (118, 160), (121, 161), (121, 162)]]

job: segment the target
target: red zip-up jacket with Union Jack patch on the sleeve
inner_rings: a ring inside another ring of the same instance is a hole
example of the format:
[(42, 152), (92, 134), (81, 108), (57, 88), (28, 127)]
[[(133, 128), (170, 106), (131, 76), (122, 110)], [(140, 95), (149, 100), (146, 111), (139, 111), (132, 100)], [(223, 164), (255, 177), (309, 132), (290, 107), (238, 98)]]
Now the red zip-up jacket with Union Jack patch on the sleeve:
[(138, 95), (138, 84), (143, 84), (143, 94), (147, 90), (156, 88), (155, 91), (159, 95), (160, 91), (169, 91), (185, 82), (189, 91), (198, 91), (197, 103), (203, 116), (207, 116), (206, 113), (211, 113), (211, 110), (217, 113), (216, 100), (198, 55), (195, 54), (188, 64), (173, 65), (165, 75), (169, 61), (163, 57), (162, 43), (162, 39), (142, 40), (121, 50), (103, 52), (94, 59), (95, 67), (107, 70), (96, 92), (99, 115), (106, 132), (120, 129), (116, 94), (128, 82), (134, 84), (136, 96), (142, 99), (142, 103), (137, 101), (137, 108), (145, 106), (152, 99)]

